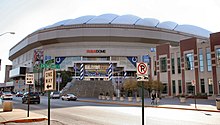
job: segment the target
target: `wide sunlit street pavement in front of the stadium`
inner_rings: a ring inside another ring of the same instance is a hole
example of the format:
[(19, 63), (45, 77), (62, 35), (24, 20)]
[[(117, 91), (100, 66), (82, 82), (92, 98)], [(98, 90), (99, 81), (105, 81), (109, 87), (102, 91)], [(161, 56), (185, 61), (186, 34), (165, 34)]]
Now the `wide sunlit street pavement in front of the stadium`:
[[(27, 109), (21, 98), (14, 97), (14, 108)], [(47, 97), (31, 104), (30, 111), (47, 116)], [(220, 113), (145, 108), (146, 125), (220, 125)], [(51, 120), (67, 125), (141, 125), (141, 107), (124, 107), (80, 101), (51, 99)]]

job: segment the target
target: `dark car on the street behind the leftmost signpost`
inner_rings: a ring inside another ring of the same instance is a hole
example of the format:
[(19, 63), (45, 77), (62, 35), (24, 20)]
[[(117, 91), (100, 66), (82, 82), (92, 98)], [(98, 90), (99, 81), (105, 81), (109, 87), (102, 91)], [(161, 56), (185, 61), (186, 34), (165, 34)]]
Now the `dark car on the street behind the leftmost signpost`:
[[(28, 92), (24, 93), (22, 97), (22, 103), (28, 104)], [(38, 92), (30, 92), (30, 103), (40, 104), (40, 95)]]

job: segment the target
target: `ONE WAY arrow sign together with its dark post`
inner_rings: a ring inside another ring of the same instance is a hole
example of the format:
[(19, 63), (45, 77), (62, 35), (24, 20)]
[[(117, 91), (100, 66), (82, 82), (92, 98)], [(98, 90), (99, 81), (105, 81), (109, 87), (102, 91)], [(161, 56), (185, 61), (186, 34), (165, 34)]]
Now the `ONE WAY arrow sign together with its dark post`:
[(48, 125), (50, 125), (50, 91), (56, 90), (56, 73), (55, 70), (48, 70), (44, 73), (44, 90), (48, 91)]

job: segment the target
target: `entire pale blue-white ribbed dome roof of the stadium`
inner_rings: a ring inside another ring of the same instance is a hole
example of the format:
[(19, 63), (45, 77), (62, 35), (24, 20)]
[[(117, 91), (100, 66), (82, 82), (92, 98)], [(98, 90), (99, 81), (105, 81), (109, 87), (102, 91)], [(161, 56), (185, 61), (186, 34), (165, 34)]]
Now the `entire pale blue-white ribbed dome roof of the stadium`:
[(194, 34), (203, 37), (209, 37), (210, 31), (193, 26), (193, 25), (178, 25), (172, 21), (166, 21), (160, 23), (159, 20), (154, 18), (140, 18), (135, 15), (116, 15), (116, 14), (102, 14), (99, 16), (87, 15), (78, 17), (75, 19), (67, 19), (60, 22), (57, 22), (53, 25), (49, 25), (41, 29), (57, 27), (57, 26), (66, 26), (66, 25), (76, 25), (76, 24), (125, 24), (125, 25), (140, 25), (148, 26), (155, 28), (162, 28), (174, 31), (185, 32), (189, 34)]

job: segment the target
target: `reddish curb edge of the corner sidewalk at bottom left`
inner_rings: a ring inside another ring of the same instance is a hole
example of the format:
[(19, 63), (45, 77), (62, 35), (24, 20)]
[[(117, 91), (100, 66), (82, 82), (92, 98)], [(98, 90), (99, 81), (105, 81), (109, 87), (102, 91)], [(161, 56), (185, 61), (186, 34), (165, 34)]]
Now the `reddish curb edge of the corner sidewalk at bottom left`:
[(9, 121), (0, 122), (0, 124), (10, 123), (10, 122), (14, 122), (14, 123), (41, 122), (44, 120), (48, 120), (48, 119), (47, 118), (18, 119), (18, 120), (9, 120)]

